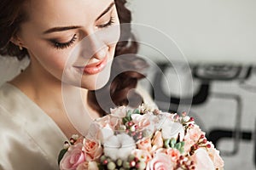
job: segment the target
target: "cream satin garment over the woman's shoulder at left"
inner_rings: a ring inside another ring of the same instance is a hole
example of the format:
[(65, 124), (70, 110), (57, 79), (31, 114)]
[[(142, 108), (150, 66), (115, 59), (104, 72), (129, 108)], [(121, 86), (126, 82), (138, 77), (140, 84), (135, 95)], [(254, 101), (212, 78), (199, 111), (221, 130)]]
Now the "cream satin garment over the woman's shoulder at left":
[(67, 140), (60, 127), (20, 89), (0, 88), (0, 169), (58, 169)]

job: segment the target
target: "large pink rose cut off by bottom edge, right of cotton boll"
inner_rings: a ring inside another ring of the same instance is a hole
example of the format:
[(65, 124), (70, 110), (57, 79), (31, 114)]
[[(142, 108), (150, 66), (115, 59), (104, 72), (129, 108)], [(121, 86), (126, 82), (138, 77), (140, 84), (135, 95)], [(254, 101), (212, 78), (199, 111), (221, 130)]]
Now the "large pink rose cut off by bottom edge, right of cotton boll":
[(151, 161), (148, 161), (147, 170), (172, 170), (174, 168), (169, 156), (163, 153), (157, 154)]

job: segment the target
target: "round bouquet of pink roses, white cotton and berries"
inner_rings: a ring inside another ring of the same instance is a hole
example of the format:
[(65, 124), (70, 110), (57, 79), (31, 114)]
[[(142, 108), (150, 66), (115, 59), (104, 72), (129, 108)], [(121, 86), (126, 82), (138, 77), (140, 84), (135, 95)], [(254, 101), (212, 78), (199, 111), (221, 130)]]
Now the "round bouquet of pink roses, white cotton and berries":
[(67, 169), (223, 169), (224, 161), (193, 117), (147, 105), (120, 106), (98, 118), (84, 137), (73, 135), (59, 155)]

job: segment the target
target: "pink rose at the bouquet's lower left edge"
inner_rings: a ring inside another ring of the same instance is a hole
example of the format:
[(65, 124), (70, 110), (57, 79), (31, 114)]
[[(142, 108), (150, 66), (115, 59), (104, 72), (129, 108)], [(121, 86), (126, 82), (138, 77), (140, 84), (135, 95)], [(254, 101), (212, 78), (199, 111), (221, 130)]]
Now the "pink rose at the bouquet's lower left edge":
[(61, 170), (74, 170), (85, 161), (83, 144), (71, 145), (60, 162)]

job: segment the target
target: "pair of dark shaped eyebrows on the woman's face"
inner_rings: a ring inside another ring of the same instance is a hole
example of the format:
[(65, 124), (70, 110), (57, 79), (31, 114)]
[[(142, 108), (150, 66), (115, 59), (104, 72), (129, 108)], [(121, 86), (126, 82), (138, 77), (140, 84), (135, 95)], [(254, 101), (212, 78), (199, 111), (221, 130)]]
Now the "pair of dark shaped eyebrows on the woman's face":
[[(110, 3), (110, 5), (108, 5), (108, 8), (106, 8), (102, 14), (100, 14), (96, 20), (99, 20), (100, 18), (102, 18), (102, 16), (106, 13), (108, 13), (108, 11), (113, 7), (114, 5), (114, 2), (113, 3)], [(55, 31), (67, 31), (67, 30), (73, 30), (73, 29), (78, 29), (78, 28), (81, 28), (82, 26), (61, 26), (61, 27), (53, 27), (53, 28), (50, 28), (49, 30), (47, 31), (44, 31), (43, 34), (49, 34), (51, 32), (55, 32)]]

